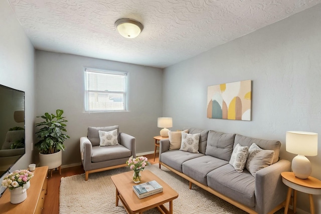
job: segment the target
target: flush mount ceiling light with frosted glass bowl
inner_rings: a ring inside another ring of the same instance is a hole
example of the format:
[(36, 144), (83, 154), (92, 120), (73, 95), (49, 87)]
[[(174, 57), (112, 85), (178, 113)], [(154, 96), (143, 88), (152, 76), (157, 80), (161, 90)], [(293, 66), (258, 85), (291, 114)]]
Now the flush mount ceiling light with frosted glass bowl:
[(142, 24), (132, 19), (117, 20), (115, 27), (121, 36), (129, 39), (137, 37), (144, 28)]

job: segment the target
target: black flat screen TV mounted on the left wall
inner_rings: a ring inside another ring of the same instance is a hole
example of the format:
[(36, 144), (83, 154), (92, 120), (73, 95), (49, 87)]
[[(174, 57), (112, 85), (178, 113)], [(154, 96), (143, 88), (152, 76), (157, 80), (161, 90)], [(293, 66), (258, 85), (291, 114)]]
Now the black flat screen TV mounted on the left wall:
[(24, 154), (25, 92), (0, 85), (0, 178)]

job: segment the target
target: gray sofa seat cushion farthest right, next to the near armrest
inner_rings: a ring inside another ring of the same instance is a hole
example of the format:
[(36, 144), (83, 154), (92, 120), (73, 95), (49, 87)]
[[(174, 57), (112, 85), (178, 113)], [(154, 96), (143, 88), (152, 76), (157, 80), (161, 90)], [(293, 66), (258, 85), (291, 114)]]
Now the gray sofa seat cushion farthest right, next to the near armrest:
[(221, 166), (207, 174), (207, 185), (248, 207), (255, 206), (255, 178), (246, 169), (238, 173), (230, 164)]

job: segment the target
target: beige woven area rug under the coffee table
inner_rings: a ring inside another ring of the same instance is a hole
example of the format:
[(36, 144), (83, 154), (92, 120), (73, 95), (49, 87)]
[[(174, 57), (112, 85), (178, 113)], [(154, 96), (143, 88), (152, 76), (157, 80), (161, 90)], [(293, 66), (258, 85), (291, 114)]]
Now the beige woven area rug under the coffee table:
[[(179, 197), (173, 200), (174, 213), (246, 213), (223, 199), (203, 190), (193, 184), (189, 189), (188, 180), (171, 172), (164, 166), (158, 168), (158, 164), (148, 165), (150, 170), (162, 180), (166, 181), (179, 193)], [(128, 167), (111, 169), (103, 172), (89, 174), (85, 181), (85, 174), (62, 177), (59, 193), (59, 212), (69, 213), (126, 213), (123, 205), (115, 206), (116, 189), (110, 179), (111, 175), (129, 171)], [(168, 208), (169, 203), (165, 206)], [(144, 214), (159, 213), (153, 208)], [(283, 213), (283, 209), (277, 214)]]

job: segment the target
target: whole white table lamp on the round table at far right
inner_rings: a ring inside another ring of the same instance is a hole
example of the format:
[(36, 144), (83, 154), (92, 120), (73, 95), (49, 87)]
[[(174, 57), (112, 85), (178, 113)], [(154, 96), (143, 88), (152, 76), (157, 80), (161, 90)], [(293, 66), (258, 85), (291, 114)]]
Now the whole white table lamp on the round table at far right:
[(285, 141), (286, 151), (297, 154), (292, 159), (292, 171), (296, 177), (306, 179), (311, 174), (312, 168), (305, 155), (317, 155), (317, 133), (287, 131)]

